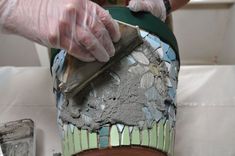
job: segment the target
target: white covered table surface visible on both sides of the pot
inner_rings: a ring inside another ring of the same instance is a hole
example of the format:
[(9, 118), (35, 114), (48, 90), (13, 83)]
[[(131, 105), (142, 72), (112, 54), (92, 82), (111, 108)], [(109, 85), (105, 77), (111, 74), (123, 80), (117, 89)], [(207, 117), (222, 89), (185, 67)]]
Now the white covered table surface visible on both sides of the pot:
[[(235, 155), (235, 66), (183, 66), (175, 156)], [(31, 118), (37, 156), (60, 152), (52, 79), (44, 67), (0, 68), (0, 123)]]

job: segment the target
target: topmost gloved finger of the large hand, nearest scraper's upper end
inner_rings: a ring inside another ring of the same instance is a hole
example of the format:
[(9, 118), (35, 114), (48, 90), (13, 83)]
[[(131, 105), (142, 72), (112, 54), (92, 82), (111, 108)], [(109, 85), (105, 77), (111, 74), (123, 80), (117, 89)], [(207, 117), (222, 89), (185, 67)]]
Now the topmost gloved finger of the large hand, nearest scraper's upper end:
[(112, 19), (112, 17), (106, 10), (104, 10), (98, 5), (96, 7), (96, 11), (99, 19), (104, 24), (105, 28), (108, 30), (113, 42), (117, 42), (121, 38), (121, 33), (117, 22)]

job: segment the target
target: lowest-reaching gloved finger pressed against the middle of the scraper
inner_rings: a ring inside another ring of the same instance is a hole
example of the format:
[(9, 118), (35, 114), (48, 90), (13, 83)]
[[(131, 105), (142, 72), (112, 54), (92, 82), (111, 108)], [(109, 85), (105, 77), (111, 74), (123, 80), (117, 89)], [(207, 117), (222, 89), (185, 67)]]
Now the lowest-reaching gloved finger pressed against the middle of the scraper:
[(109, 54), (104, 46), (89, 30), (78, 26), (76, 43), (80, 43), (81, 46), (89, 51), (98, 61), (107, 62), (109, 60)]

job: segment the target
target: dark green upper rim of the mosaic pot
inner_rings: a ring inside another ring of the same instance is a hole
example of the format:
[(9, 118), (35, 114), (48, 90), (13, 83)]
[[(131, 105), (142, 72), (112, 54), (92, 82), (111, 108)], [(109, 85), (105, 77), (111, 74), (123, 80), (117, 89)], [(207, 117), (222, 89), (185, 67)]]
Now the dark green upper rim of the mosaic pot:
[(105, 7), (105, 9), (116, 20), (131, 25), (138, 25), (141, 29), (157, 35), (162, 41), (168, 43), (174, 49), (179, 60), (179, 49), (176, 38), (170, 28), (159, 18), (148, 12), (132, 12), (123, 6), (111, 6)]

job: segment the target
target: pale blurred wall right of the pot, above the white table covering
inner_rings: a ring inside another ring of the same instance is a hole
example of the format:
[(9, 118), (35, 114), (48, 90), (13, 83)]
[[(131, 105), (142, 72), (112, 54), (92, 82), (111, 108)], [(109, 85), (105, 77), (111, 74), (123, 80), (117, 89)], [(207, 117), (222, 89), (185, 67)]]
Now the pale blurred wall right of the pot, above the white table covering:
[(232, 1), (195, 2), (173, 14), (182, 64), (235, 64)]

